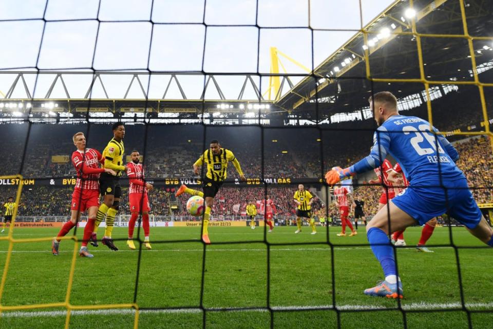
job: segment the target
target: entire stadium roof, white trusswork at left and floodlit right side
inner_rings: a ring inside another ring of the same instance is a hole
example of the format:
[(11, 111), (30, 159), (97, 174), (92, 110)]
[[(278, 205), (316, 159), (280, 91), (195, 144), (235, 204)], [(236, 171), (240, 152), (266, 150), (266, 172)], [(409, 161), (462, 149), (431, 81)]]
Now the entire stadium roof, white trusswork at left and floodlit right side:
[[(411, 30), (412, 20), (416, 22), (416, 31), (425, 34), (421, 36), (425, 78), (429, 81), (443, 82), (440, 83), (442, 85), (473, 82), (468, 40), (461, 37), (464, 29), (460, 2), (415, 0), (413, 3), (415, 11), (410, 12), (409, 1), (395, 1), (364, 27), (365, 33), (357, 32), (318, 65), (312, 76), (302, 79), (276, 102), (262, 99), (259, 79), (252, 75), (243, 75), (243, 84), (240, 85), (237, 99), (227, 100), (221, 91), (221, 83), (227, 82), (215, 78), (214, 74), (204, 77), (203, 72), (152, 72), (153, 77), (162, 76), (165, 80), (161, 84), (162, 97), (151, 99), (142, 84), (143, 79), (149, 79), (149, 72), (0, 71), (0, 74), (15, 77), (5, 98), (0, 99), (0, 111), (3, 111), (4, 116), (5, 113), (9, 113), (9, 116), (14, 113), (22, 116), (21, 111), (26, 108), (31, 108), (32, 113), (44, 115), (69, 111), (75, 116), (86, 115), (87, 112), (102, 112), (94, 116), (112, 117), (116, 113), (128, 113), (130, 117), (137, 117), (137, 114), (141, 116), (149, 113), (153, 118), (176, 117), (192, 120), (200, 118), (202, 113), (207, 113), (207, 117), (219, 119), (238, 116), (246, 118), (248, 112), (259, 111), (264, 118), (272, 116), (272, 113), (284, 113), (286, 119), (290, 113), (293, 117), (320, 122), (336, 113), (364, 109), (368, 106), (367, 99), (371, 93), (383, 89), (393, 92), (400, 99), (421, 95), (424, 85), (419, 81), (421, 72), (418, 43)], [(468, 0), (464, 10), (468, 32), (474, 37), (472, 45), (476, 66), (487, 70), (493, 67), (491, 1)], [(440, 33), (444, 34), (437, 35)], [(369, 56), (369, 63), (365, 61), (365, 52)], [(368, 76), (367, 67), (370, 70)], [(38, 73), (40, 77), (52, 79), (52, 83), (45, 97), (33, 99), (33, 92), (29, 89), (25, 77), (32, 77)], [(79, 98), (73, 98), (68, 92), (70, 88), (66, 87), (74, 83), (73, 77), (84, 77), (88, 80), (87, 93), (83, 96), (78, 95)], [(124, 94), (123, 98), (108, 97), (104, 81), (110, 77), (129, 81), (126, 92), (119, 92)], [(186, 83), (182, 80), (189, 77), (202, 79), (205, 84), (199, 99), (187, 99), (181, 88), (181, 84)], [(368, 79), (369, 77), (371, 79)], [(63, 86), (66, 98), (51, 97), (56, 85), (59, 88), (60, 85)], [(92, 88), (96, 85), (102, 88), (105, 98), (89, 99)], [(182, 98), (167, 98), (170, 87), (178, 88)], [(13, 91), (19, 88), (24, 89), (25, 97), (13, 98)], [(127, 99), (131, 88), (140, 89), (142, 98)]]

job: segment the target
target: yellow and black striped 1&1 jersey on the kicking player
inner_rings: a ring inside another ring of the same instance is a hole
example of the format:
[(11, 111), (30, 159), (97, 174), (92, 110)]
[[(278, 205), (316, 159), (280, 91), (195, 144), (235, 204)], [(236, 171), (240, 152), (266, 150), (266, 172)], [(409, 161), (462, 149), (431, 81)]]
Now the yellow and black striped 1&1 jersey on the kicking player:
[(202, 166), (202, 163), (207, 165), (205, 177), (214, 181), (223, 181), (226, 179), (226, 168), (228, 162), (233, 162), (236, 171), (241, 176), (240, 162), (230, 150), (222, 149), (218, 155), (212, 153), (211, 150), (206, 150), (202, 156), (195, 161), (194, 166)]

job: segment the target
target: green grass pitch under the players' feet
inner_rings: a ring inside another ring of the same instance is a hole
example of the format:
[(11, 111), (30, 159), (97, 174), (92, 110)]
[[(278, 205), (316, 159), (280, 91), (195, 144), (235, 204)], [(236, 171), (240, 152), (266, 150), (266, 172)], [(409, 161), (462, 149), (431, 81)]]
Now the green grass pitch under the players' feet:
[[(142, 310), (140, 328), (491, 328), (493, 325), (493, 252), (490, 248), (458, 249), (463, 298), (473, 312), (461, 310), (456, 251), (450, 246), (431, 247), (421, 253), (412, 246), (421, 228), (405, 232), (408, 248), (397, 251), (404, 284), (402, 307), (395, 300), (363, 295), (365, 288), (382, 278), (380, 265), (359, 227), (354, 237), (338, 237), (340, 227), (318, 227), (311, 235), (304, 227), (276, 227), (267, 234), (270, 247), (268, 294), (268, 246), (262, 242), (263, 227), (211, 227), (211, 246), (206, 247), (204, 288), (201, 291), (203, 245), (199, 228), (152, 228), (152, 250), (142, 250), (137, 285), (137, 303)], [(58, 229), (19, 228), (15, 238), (55, 235)], [(6, 232), (5, 232), (6, 233)], [(4, 234), (5, 234), (4, 233)], [(103, 228), (99, 231), (101, 237)], [(113, 237), (125, 239), (126, 228), (115, 228)], [(69, 233), (70, 234), (70, 233)], [(141, 231), (142, 234), (142, 231)], [(82, 237), (82, 229), (78, 230)], [(453, 228), (456, 246), (483, 245), (464, 228)], [(188, 242), (180, 242), (188, 240)], [(156, 241), (166, 241), (158, 243)], [(219, 242), (251, 242), (227, 243)], [(428, 245), (449, 245), (447, 227), (435, 229)], [(63, 241), (54, 257), (49, 242), (16, 243), (1, 303), (4, 306), (63, 302), (67, 293), (73, 241)], [(276, 245), (277, 244), (277, 245)], [(116, 241), (119, 251), (100, 244), (90, 247), (93, 259), (77, 258), (70, 303), (98, 305), (132, 303), (137, 278), (138, 251), (125, 241)], [(0, 268), (5, 268), (8, 242), (0, 242)], [(332, 266), (334, 272), (332, 273)], [(204, 313), (200, 309), (209, 309)], [(268, 300), (269, 299), (269, 300)], [(337, 313), (333, 308), (340, 310)], [(270, 306), (273, 312), (269, 312)], [(188, 308), (187, 308), (188, 307)], [(256, 308), (258, 307), (258, 308)], [(159, 310), (159, 308), (168, 308)], [(223, 308), (246, 308), (223, 310)], [(253, 309), (251, 309), (253, 308)], [(322, 309), (306, 309), (322, 308)], [(370, 312), (371, 309), (381, 308)], [(384, 309), (388, 308), (388, 309)], [(454, 308), (444, 312), (436, 309)], [(364, 312), (355, 312), (364, 309)], [(427, 310), (428, 312), (419, 312)], [(434, 312), (429, 312), (434, 310)], [(490, 311), (485, 312), (485, 311)], [(272, 322), (273, 321), (273, 322)], [(272, 323), (271, 323), (272, 322)], [(64, 308), (4, 312), (0, 328), (59, 328), (65, 323)], [(132, 328), (132, 310), (74, 312), (70, 328)]]

